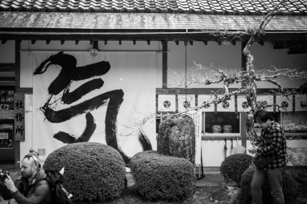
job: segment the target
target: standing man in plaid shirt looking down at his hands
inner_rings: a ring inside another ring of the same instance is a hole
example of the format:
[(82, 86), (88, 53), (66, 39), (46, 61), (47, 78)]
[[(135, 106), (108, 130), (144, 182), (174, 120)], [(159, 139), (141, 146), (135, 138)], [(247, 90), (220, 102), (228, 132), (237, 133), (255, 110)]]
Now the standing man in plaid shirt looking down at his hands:
[(256, 167), (251, 183), (252, 204), (262, 204), (261, 186), (266, 175), (268, 176), (274, 204), (284, 204), (282, 193), (282, 177), (286, 166), (286, 137), (279, 123), (274, 122), (273, 116), (265, 111), (258, 110), (254, 119), (262, 127), (259, 146), (251, 145), (249, 152), (270, 158), (271, 162), (263, 169)]

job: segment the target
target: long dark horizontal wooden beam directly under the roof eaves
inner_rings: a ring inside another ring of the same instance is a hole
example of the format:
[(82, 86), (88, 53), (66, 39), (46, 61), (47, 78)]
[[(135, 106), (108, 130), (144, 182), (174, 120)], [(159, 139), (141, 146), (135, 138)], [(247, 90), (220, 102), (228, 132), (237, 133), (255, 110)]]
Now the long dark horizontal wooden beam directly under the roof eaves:
[[(186, 32), (135, 32), (127, 30), (123, 32), (92, 32), (92, 30), (57, 30), (57, 32), (50, 32), (50, 30), (14, 30), (0, 31), (0, 39), (6, 40), (148, 40), (151, 41), (184, 41), (186, 39)], [(301, 41), (305, 40), (305, 32), (266, 32), (265, 36), (261, 37), (262, 41)], [(216, 36), (212, 36), (211, 32), (189, 32), (189, 40), (193, 41), (215, 41)], [(243, 36), (239, 41), (249, 40), (250, 36)], [(237, 40), (238, 41), (238, 40)]]

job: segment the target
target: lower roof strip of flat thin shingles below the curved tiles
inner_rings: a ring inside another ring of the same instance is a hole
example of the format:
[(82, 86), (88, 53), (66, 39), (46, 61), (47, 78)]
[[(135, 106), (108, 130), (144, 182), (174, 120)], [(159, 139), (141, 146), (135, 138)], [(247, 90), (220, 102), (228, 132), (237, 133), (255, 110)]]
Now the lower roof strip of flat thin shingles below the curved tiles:
[[(254, 28), (262, 16), (184, 13), (82, 13), (82, 12), (0, 12), (0, 28), (103, 30), (243, 30)], [(307, 15), (279, 15), (267, 31), (307, 32)]]

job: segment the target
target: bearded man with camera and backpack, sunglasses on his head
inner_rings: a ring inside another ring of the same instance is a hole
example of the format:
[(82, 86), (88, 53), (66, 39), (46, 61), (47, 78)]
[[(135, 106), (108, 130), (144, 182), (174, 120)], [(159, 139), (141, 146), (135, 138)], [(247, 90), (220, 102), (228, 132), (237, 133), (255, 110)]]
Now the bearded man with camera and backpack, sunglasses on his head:
[(52, 203), (51, 188), (46, 181), (45, 170), (40, 168), (39, 159), (33, 154), (33, 150), (19, 163), (21, 179), (16, 186), (8, 174), (0, 181), (0, 194), (3, 199), (14, 198), (18, 204)]

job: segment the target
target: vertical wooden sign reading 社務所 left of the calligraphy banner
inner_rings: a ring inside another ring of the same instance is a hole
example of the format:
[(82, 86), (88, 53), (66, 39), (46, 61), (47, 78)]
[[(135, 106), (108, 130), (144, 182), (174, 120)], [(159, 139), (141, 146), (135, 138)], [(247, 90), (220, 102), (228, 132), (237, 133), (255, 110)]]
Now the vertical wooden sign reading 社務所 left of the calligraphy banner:
[(25, 141), (25, 94), (14, 95), (14, 138)]

